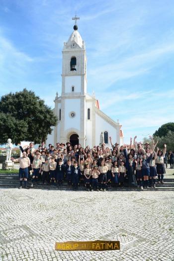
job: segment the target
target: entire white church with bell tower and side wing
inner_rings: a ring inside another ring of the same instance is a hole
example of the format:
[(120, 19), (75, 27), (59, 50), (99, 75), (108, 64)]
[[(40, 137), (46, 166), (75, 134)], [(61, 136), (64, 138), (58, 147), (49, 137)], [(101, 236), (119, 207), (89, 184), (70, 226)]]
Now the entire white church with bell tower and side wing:
[(119, 121), (115, 122), (99, 109), (94, 94), (87, 93), (87, 54), (85, 42), (78, 32), (75, 16), (74, 31), (68, 42), (64, 43), (62, 60), (62, 93), (56, 93), (54, 113), (58, 124), (48, 136), (46, 144), (57, 142), (72, 145), (81, 144), (83, 148), (100, 144), (101, 132), (104, 143), (123, 144), (123, 133)]

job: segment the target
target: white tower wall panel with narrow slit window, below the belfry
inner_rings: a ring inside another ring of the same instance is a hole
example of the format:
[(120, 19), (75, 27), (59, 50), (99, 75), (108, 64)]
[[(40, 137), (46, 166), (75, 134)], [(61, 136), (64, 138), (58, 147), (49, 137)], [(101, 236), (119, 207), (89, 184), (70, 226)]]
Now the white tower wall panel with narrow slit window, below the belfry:
[(74, 92), (81, 92), (81, 76), (65, 77), (65, 92), (72, 92), (72, 86), (75, 87)]

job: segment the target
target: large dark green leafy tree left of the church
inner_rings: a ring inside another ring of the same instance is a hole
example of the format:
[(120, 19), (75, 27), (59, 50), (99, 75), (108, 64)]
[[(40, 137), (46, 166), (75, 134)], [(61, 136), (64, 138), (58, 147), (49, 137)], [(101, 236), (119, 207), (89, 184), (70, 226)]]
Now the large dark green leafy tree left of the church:
[(40, 143), (56, 124), (53, 110), (31, 90), (10, 92), (0, 99), (0, 144), (8, 138), (15, 144), (22, 140)]

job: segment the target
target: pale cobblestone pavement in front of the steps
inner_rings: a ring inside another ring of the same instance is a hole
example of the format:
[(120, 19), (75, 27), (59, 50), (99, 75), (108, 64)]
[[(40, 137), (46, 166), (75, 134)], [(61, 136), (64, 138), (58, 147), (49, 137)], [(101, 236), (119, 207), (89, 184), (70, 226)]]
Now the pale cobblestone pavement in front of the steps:
[[(1, 261), (173, 261), (173, 191), (0, 190)], [(119, 240), (120, 251), (55, 242)]]

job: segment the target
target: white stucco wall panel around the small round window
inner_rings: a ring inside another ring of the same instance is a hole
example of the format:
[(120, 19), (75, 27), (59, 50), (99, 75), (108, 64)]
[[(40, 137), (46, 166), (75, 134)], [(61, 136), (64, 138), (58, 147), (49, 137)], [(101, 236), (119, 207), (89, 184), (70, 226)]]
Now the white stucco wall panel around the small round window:
[[(71, 118), (69, 113), (74, 111), (76, 116)], [(80, 99), (65, 99), (65, 131), (69, 128), (76, 128), (80, 130)]]

